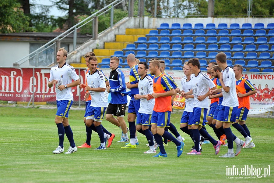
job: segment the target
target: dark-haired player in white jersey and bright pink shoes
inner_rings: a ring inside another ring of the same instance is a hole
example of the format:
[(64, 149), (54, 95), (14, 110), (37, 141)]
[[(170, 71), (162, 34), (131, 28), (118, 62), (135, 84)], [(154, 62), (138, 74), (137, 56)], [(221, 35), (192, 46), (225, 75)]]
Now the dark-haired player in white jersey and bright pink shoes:
[(209, 108), (208, 96), (206, 94), (209, 92), (209, 89), (216, 89), (216, 86), (208, 75), (201, 72), (199, 59), (193, 58), (188, 60), (188, 66), (192, 72), (190, 76), (192, 89), (188, 92), (182, 93), (182, 96), (185, 97), (187, 95), (194, 94), (193, 121), (191, 128), (193, 132), (195, 147), (191, 152), (187, 154), (201, 155), (199, 148), (200, 134), (213, 144), (215, 154), (218, 154), (222, 142), (216, 141), (209, 135), (209, 133), (205, 129), (202, 128), (203, 126), (206, 126), (206, 113)]

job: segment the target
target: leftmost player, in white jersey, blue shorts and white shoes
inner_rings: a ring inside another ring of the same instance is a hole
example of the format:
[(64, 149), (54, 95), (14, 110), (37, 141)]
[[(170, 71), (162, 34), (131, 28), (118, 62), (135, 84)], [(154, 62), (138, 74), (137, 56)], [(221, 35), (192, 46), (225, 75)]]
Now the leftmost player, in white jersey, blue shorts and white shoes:
[(68, 123), (68, 111), (73, 103), (71, 87), (79, 85), (80, 79), (74, 68), (66, 63), (67, 55), (68, 52), (65, 50), (65, 48), (60, 48), (58, 50), (56, 55), (58, 65), (51, 68), (50, 78), (48, 80), (49, 88), (53, 87), (55, 84), (57, 100), (55, 124), (58, 128), (59, 145), (53, 151), (54, 154), (60, 154), (64, 152), (65, 134), (70, 143), (68, 152), (65, 152), (65, 154), (71, 154), (72, 152), (77, 151), (77, 147), (73, 139), (73, 133)]

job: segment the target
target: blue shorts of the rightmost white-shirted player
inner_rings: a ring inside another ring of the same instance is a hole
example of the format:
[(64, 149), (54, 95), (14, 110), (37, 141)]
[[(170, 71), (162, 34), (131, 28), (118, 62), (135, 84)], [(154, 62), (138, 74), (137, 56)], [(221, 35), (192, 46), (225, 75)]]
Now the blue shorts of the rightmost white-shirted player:
[(235, 123), (237, 116), (238, 107), (228, 107), (221, 105), (219, 108), (219, 113), (217, 121), (223, 123)]

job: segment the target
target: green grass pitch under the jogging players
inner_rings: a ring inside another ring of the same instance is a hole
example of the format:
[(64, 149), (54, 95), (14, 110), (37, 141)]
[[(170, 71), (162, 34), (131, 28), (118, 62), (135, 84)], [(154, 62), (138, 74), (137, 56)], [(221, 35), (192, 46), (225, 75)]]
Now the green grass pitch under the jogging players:
[[(200, 156), (186, 155), (193, 142), (179, 128), (181, 113), (173, 113), (171, 121), (186, 139), (184, 152), (177, 157), (175, 145), (169, 142), (168, 157), (155, 158), (143, 154), (148, 148), (140, 133), (136, 149), (121, 149), (124, 143), (117, 142), (121, 130), (106, 120), (102, 124), (116, 135), (110, 148), (93, 150), (100, 145), (97, 133), (93, 132), (92, 148), (79, 148), (73, 154), (53, 154), (59, 142), (55, 113), (56, 109), (0, 107), (0, 182), (273, 182), (273, 118), (248, 118), (247, 126), (256, 148), (242, 149), (235, 158), (225, 159), (219, 156), (227, 152), (227, 147), (221, 147), (219, 155), (215, 155), (212, 144), (203, 145)], [(69, 111), (76, 145), (86, 140), (83, 115), (84, 111)], [(207, 131), (216, 138), (211, 127), (207, 126)], [(232, 131), (244, 140), (233, 127)], [(65, 138), (65, 152), (68, 147)], [(270, 176), (226, 176), (226, 167), (233, 165), (239, 174), (245, 165), (262, 168), (261, 175), (270, 165)]]

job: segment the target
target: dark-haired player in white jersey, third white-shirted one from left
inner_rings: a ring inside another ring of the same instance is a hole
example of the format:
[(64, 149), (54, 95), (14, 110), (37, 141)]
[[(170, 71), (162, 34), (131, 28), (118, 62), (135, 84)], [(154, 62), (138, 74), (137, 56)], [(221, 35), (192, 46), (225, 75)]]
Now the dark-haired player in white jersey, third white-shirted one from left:
[(144, 153), (153, 154), (156, 153), (156, 149), (153, 143), (153, 135), (149, 130), (149, 125), (151, 124), (151, 116), (155, 100), (146, 100), (146, 95), (151, 95), (153, 93), (153, 80), (146, 74), (147, 71), (147, 63), (140, 62), (138, 65), (138, 74), (140, 76), (138, 85), (139, 94), (134, 95), (135, 99), (140, 99), (140, 108), (136, 120), (136, 130), (140, 131), (142, 129), (143, 133), (146, 136), (147, 142), (149, 143), (149, 150)]

